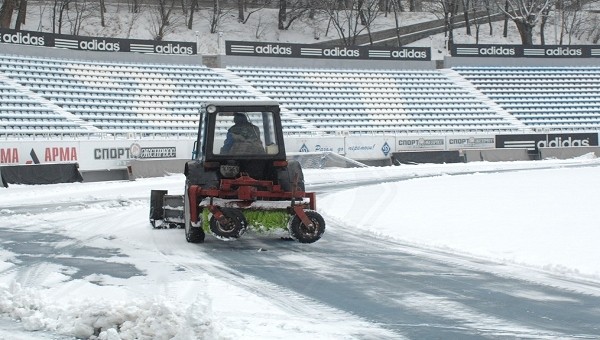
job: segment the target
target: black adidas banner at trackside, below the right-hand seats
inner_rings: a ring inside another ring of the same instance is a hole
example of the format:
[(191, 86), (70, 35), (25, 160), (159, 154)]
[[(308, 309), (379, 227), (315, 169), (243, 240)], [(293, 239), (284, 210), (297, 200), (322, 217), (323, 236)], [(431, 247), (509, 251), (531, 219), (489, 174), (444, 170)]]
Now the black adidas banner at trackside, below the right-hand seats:
[(598, 146), (597, 133), (549, 133), (497, 135), (496, 148), (522, 148), (539, 151), (539, 148)]

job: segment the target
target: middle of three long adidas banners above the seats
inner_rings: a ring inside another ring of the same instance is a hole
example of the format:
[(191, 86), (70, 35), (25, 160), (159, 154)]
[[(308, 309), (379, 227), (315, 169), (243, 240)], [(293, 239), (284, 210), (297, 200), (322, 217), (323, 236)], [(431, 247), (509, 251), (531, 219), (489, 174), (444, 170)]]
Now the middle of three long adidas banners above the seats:
[(323, 59), (369, 59), (430, 61), (429, 47), (367, 47), (336, 46), (322, 47), (309, 44), (277, 42), (226, 41), (225, 54), (251, 57), (289, 57)]

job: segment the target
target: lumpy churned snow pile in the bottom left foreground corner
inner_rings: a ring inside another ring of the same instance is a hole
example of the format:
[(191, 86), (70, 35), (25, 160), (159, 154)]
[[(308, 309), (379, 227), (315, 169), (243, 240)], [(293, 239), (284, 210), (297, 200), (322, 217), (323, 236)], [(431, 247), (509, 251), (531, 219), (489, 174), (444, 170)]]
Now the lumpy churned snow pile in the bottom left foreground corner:
[(203, 296), (187, 309), (170, 301), (51, 301), (38, 290), (12, 283), (0, 290), (0, 313), (22, 323), (27, 331), (53, 331), (85, 339), (215, 339), (210, 298)]

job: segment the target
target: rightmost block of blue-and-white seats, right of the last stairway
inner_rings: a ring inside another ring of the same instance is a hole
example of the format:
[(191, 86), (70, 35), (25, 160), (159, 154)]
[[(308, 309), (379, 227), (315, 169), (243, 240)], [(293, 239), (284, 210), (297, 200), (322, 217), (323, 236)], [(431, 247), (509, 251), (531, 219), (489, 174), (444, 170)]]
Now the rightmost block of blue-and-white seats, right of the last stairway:
[(453, 69), (534, 130), (595, 130), (600, 127), (598, 67)]

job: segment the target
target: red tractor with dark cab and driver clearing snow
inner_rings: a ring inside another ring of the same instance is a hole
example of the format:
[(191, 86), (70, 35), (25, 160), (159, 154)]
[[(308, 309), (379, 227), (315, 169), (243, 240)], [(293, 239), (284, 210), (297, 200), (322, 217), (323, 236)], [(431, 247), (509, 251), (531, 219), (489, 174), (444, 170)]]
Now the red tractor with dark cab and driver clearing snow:
[[(253, 212), (284, 216), (291, 238), (301, 243), (315, 242), (325, 232), (315, 194), (305, 191), (300, 163), (287, 160), (274, 101), (204, 103), (184, 174), (180, 222), (188, 242), (203, 242), (205, 230), (223, 240), (237, 239), (255, 222)], [(165, 216), (155, 202), (152, 206), (154, 225)]]

